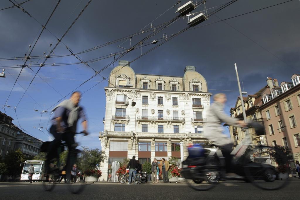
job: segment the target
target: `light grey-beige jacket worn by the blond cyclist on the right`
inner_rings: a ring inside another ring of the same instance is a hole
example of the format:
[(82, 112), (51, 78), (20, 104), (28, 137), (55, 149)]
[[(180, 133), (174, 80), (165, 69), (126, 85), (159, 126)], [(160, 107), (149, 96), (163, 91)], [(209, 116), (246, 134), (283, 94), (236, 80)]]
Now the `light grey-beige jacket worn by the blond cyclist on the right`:
[(231, 143), (228, 136), (223, 133), (221, 126), (222, 122), (229, 125), (235, 125), (238, 122), (237, 118), (232, 118), (224, 112), (224, 105), (219, 102), (211, 104), (207, 111), (207, 122), (204, 125), (204, 136), (211, 140), (215, 145), (226, 145)]

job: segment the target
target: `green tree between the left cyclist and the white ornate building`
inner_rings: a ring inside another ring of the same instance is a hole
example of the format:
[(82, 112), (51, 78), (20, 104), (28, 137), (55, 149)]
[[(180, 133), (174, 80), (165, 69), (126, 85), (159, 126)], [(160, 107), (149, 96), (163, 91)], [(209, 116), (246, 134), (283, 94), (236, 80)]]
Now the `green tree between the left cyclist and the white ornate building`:
[(77, 165), (83, 170), (95, 169), (97, 164), (100, 166), (104, 160), (107, 159), (104, 151), (100, 151), (98, 148), (89, 149), (87, 147), (82, 147), (82, 154), (79, 155)]

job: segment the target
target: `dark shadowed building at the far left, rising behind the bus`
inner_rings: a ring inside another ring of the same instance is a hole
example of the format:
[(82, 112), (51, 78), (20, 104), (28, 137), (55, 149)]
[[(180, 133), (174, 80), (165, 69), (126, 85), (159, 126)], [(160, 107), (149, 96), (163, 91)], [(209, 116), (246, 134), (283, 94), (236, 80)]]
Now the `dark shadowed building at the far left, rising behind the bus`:
[(24, 133), (12, 121), (13, 118), (0, 112), (0, 160), (17, 149), (29, 159), (34, 157), (40, 152), (42, 141)]

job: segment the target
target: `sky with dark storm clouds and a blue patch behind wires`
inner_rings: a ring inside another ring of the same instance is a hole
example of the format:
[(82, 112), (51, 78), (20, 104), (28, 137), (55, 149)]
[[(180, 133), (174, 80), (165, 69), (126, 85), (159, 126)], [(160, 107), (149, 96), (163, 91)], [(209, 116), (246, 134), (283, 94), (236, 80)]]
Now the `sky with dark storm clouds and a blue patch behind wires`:
[[(205, 6), (209, 13), (228, 1), (208, 0)], [(211, 93), (224, 92), (228, 95), (226, 111), (229, 114), (229, 108), (234, 106), (239, 95), (234, 63), (238, 65), (244, 91), (249, 94), (265, 86), (267, 77), (276, 78), (279, 82), (290, 81), (292, 74), (300, 73), (300, 40), (298, 38), (300, 2), (294, 0), (222, 22), (217, 21), (284, 1), (287, 0), (239, 0), (210, 16), (205, 22), (190, 28), (132, 62), (130, 66), (136, 73), (169, 76), (183, 76), (186, 65), (196, 66), (196, 70), (207, 80)], [(17, 2), (20, 3), (21, 0)], [(31, 0), (22, 4), (31, 16), (16, 7), (0, 11), (0, 68), (4, 66), (2, 68), (6, 69), (6, 78), (0, 79), (1, 107), (5, 104), (20, 72), (20, 68), (16, 65), (24, 64), (22, 58), (14, 59), (13, 57), (22, 57), (25, 53), (28, 55), (29, 45), (33, 46), (41, 32), (42, 28), (39, 23), (42, 25), (46, 23), (57, 2), (58, 0)], [(88, 0), (61, 0), (31, 56), (42, 56), (44, 52), (48, 54), (57, 43), (57, 38), (61, 38), (87, 2)], [(169, 22), (177, 16), (175, 11), (178, 6), (173, 8), (176, 2), (173, 0), (93, 0), (55, 48), (54, 54), (70, 54), (66, 46), (78, 53), (134, 33), (141, 33), (143, 29), (148, 30), (151, 23), (158, 32), (160, 24)], [(182, 4), (185, 2), (182, 1)], [(0, 9), (10, 6), (12, 6), (10, 1), (1, 1)], [(200, 12), (204, 10), (203, 7), (204, 5), (201, 5), (193, 12)], [(164, 33), (170, 38), (172, 34), (185, 27), (187, 27), (187, 19), (181, 18), (147, 42), (162, 38)], [(152, 31), (145, 31), (143, 34), (137, 34), (132, 37), (131, 45), (138, 43), (151, 33)], [(52, 46), (49, 45), (50, 43)], [(121, 60), (132, 61), (155, 45), (158, 43), (135, 49)], [(118, 46), (128, 49), (130, 40), (122, 40), (79, 56), (82, 60), (88, 61), (123, 50)], [(113, 58), (112, 56), (91, 62), (89, 65), (99, 71), (110, 64)], [(49, 108), (94, 75), (95, 71), (85, 64), (58, 65), (58, 63), (78, 62), (74, 56), (48, 58), (45, 63), (55, 63), (54, 66), (41, 68), (38, 72), (39, 76), (34, 79), (20, 101), (24, 88), (28, 87), (39, 68), (36, 64), (44, 60), (45, 58), (33, 59), (32, 57), (31, 61), (27, 61), (26, 64), (31, 66), (34, 72), (29, 68), (22, 70), (6, 103), (11, 107), (5, 110), (14, 118), (14, 124), (20, 125), (33, 136), (46, 141), (50, 139), (49, 133), (45, 130), (49, 121), (51, 110)], [(113, 65), (110, 65), (100, 74), (108, 77), (112, 68)], [(97, 83), (99, 84), (91, 88)], [(102, 118), (105, 114), (103, 87), (105, 86), (107, 82), (98, 75), (78, 88), (80, 91), (87, 91), (91, 88), (82, 97), (82, 105), (87, 111), (91, 132), (87, 137), (77, 137), (83, 146), (101, 148), (98, 134), (99, 131), (103, 131)], [(13, 107), (16, 107), (17, 115)], [(49, 109), (49, 112), (41, 115), (41, 112), (46, 109)], [(1, 112), (4, 112), (4, 109)], [(33, 128), (39, 126), (44, 127), (44, 129), (41, 128), (44, 133)]]

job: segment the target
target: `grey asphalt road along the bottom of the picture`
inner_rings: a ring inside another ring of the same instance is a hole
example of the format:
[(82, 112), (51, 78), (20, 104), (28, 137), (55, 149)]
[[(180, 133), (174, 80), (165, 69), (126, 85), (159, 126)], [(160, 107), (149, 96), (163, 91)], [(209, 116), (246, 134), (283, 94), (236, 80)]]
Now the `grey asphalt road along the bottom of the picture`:
[(300, 180), (292, 179), (281, 190), (260, 190), (242, 181), (224, 181), (209, 191), (196, 191), (186, 183), (125, 185), (119, 183), (88, 184), (78, 195), (66, 185), (58, 184), (52, 192), (41, 183), (0, 182), (0, 199), (299, 199)]

